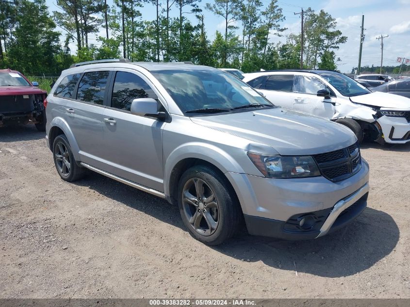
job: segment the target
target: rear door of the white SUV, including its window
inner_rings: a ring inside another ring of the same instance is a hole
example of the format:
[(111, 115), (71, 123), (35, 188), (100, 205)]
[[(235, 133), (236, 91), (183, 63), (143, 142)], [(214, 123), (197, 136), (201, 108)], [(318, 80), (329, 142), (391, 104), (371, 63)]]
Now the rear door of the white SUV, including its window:
[(255, 88), (273, 104), (292, 109), (293, 78), (294, 75), (271, 75)]

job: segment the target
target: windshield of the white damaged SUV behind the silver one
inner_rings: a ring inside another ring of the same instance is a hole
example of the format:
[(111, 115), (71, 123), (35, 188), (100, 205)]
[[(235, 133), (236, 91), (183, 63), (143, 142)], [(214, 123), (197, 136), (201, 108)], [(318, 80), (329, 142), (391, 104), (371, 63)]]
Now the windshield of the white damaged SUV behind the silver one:
[(334, 88), (336, 88), (343, 96), (352, 97), (371, 93), (370, 90), (365, 88), (359, 82), (345, 76), (344, 74), (329, 71), (318, 71), (317, 73), (333, 85)]

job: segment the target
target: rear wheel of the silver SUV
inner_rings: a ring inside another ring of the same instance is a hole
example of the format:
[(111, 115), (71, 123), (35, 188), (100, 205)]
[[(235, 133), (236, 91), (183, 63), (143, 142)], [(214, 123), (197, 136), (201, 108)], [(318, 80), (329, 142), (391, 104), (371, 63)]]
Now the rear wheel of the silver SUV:
[(53, 159), (58, 175), (65, 181), (75, 181), (84, 176), (85, 169), (78, 166), (67, 137), (58, 135), (53, 142)]

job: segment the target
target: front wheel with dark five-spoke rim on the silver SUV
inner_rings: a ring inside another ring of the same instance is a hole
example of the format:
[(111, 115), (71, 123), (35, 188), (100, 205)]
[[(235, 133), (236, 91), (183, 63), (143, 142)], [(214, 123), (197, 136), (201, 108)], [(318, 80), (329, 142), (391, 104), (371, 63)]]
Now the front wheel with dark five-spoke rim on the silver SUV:
[(241, 222), (242, 211), (230, 183), (208, 166), (196, 165), (182, 174), (178, 206), (191, 236), (208, 245), (232, 237)]

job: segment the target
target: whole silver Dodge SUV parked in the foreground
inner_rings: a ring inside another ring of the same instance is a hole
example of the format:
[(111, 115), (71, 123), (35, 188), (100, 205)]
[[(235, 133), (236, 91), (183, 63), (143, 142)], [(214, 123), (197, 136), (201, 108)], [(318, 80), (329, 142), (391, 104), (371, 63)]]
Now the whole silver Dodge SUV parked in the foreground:
[(90, 169), (165, 198), (206, 244), (244, 220), (252, 235), (318, 238), (366, 207), (369, 167), (349, 129), (279, 108), (218, 69), (82, 63), (47, 101), (61, 178)]

